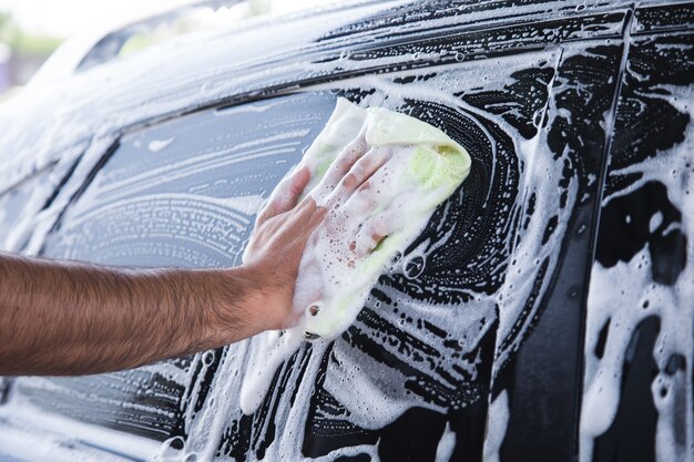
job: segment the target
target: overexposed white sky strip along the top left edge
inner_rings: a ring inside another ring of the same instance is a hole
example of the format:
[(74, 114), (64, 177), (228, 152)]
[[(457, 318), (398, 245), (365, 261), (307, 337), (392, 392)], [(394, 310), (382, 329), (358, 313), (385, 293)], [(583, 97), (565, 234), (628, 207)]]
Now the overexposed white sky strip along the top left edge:
[[(273, 12), (328, 3), (322, 0), (252, 0), (269, 3)], [(0, 0), (27, 32), (68, 38), (72, 34), (118, 28), (193, 0)]]

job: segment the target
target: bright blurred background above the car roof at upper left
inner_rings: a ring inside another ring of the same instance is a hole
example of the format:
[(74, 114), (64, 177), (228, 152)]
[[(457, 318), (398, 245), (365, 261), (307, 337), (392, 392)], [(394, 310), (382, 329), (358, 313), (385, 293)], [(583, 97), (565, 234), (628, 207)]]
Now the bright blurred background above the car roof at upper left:
[[(251, 17), (280, 14), (335, 1), (246, 0), (223, 8), (220, 14), (198, 14), (173, 31), (208, 30)], [(131, 22), (194, 3), (200, 0), (0, 0), (0, 102), (16, 94), (65, 40), (105, 35)], [(146, 44), (165, 40), (167, 33), (171, 30), (160, 30), (153, 38), (136, 37), (123, 51), (136, 52)]]

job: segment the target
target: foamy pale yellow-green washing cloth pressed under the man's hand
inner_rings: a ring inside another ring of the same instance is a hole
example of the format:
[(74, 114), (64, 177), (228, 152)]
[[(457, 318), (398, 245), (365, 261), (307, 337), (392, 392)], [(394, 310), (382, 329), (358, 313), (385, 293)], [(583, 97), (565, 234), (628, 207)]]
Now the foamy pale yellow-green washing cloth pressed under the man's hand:
[[(345, 175), (340, 164), (353, 162), (344, 187), (333, 188), (334, 176)], [(306, 192), (328, 214), (304, 250), (294, 296), (304, 316), (295, 329), (333, 337), (354, 321), (376, 278), (468, 176), (470, 163), (432, 125), (339, 99), (296, 170), (308, 168)]]

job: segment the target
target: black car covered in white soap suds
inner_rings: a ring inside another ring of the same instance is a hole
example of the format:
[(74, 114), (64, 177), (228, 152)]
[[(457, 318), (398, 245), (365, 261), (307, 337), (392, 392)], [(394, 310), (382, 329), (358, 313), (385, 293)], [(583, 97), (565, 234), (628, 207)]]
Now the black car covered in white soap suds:
[(1, 107), (0, 248), (238, 265), (339, 96), (470, 176), (253, 414), (264, 336), (6, 378), (0, 460), (694, 460), (694, 2), (360, 1), (114, 58), (146, 25)]

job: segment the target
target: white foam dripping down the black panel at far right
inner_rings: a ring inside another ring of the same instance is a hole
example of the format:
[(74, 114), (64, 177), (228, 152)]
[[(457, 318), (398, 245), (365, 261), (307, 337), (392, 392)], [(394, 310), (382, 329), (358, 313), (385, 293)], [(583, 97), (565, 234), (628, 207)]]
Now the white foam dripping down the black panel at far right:
[[(670, 95), (653, 93), (650, 96), (665, 99), (669, 103), (694, 116), (692, 90), (667, 86)], [(675, 97), (678, 96), (678, 97)], [(581, 410), (581, 461), (592, 460), (594, 439), (603, 434), (612, 423), (620, 404), (622, 370), (627, 347), (636, 326), (646, 317), (657, 316), (660, 335), (653, 348), (653, 358), (659, 373), (652, 382), (652, 397), (657, 410), (655, 435), (656, 460), (694, 460), (694, 415), (682, 412), (692, 409), (692, 363), (694, 360), (694, 126), (690, 123), (682, 143), (657, 156), (613, 172), (613, 175), (637, 174), (633, 185), (603, 199), (603, 205), (615, 197), (639, 189), (645, 183), (656, 181), (667, 188), (667, 197), (682, 212), (682, 225), (669, 226), (665, 236), (680, 228), (686, 236), (686, 266), (674, 286), (657, 284), (652, 277), (651, 255), (647, 245), (630, 261), (618, 261), (605, 268), (595, 263), (591, 270), (588, 298), (585, 332), (584, 396)], [(656, 212), (649, 223), (651, 233), (656, 233), (663, 222)], [(619, 289), (623, 288), (623, 289)], [(603, 357), (594, 348), (603, 327), (609, 324)], [(673, 355), (685, 359), (685, 370), (673, 374), (665, 372)], [(664, 393), (664, 396), (663, 396)], [(681, 407), (677, 409), (677, 407)], [(684, 415), (684, 421), (682, 421)], [(677, 427), (684, 424), (676, 438)]]

